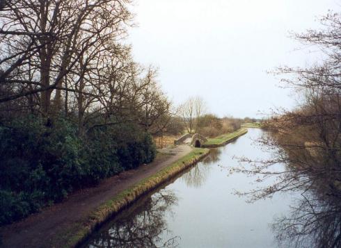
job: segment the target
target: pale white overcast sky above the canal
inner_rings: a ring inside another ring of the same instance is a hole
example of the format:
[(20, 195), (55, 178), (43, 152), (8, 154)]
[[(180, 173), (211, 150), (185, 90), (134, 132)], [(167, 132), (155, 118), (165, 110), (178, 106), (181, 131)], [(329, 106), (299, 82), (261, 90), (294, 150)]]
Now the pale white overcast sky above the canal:
[[(289, 31), (317, 28), (338, 0), (134, 0), (129, 30), (136, 61), (159, 67), (174, 104), (199, 95), (219, 116), (260, 117), (292, 108), (289, 90), (267, 71), (314, 59)], [(310, 48), (311, 49), (311, 48)], [(319, 55), (315, 53), (314, 58)]]

